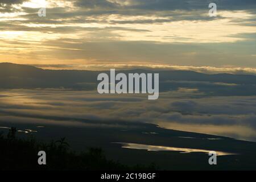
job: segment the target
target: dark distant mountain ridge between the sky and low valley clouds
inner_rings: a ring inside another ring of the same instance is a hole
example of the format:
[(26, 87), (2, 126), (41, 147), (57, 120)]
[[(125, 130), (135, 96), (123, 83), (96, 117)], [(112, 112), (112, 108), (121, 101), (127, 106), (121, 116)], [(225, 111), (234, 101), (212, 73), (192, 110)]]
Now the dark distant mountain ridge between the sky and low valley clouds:
[[(78, 71), (78, 70), (49, 70), (32, 67), (30, 65), (0, 63), (0, 88), (71, 88), (93, 90), (97, 88), (97, 76), (99, 73), (109, 71)], [(238, 95), (255, 94), (256, 76), (232, 75), (228, 73), (208, 75), (193, 71), (154, 71), (134, 69), (116, 71), (128, 73), (159, 73), (160, 92), (185, 88), (201, 88), (205, 92), (216, 89), (214, 83), (237, 84), (236, 90), (230, 90), (230, 86), (218, 85), (218, 89), (225, 95), (234, 92)], [(184, 83), (187, 81), (187, 83)], [(195, 84), (196, 82), (196, 84)], [(212, 83), (207, 85), (205, 83)], [(214, 88), (213, 88), (214, 86)], [(235, 87), (233, 87), (235, 88)], [(244, 89), (250, 89), (245, 92)], [(216, 90), (217, 92), (217, 90)], [(221, 94), (221, 93), (220, 93)]]

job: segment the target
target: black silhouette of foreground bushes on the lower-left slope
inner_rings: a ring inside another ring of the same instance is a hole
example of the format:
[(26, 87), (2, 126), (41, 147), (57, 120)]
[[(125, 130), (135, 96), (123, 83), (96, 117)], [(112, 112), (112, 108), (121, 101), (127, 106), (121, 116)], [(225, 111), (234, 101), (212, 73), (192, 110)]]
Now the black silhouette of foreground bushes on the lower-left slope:
[[(0, 133), (0, 170), (155, 170), (150, 166), (127, 166), (104, 156), (101, 148), (89, 148), (84, 152), (70, 150), (65, 138), (50, 143), (38, 142), (34, 137), (15, 137), (12, 127), (4, 137)], [(46, 152), (46, 165), (38, 164), (38, 152)]]

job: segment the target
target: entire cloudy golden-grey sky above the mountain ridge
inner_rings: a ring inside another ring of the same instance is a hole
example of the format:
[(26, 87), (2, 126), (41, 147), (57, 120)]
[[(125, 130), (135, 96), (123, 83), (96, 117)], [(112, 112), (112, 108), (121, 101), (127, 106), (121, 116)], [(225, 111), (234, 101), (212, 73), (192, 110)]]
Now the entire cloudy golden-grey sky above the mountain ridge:
[(255, 73), (255, 15), (255, 0), (0, 0), (0, 62)]

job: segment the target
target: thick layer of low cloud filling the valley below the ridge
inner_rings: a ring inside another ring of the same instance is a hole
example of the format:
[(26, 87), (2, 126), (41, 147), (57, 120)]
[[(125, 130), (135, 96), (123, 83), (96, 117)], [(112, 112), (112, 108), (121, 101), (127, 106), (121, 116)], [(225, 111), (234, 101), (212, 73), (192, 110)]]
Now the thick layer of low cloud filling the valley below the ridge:
[[(196, 98), (195, 98), (196, 96)], [(0, 93), (1, 122), (126, 127), (155, 123), (168, 129), (255, 140), (256, 97), (205, 97), (196, 89), (143, 95), (38, 89)]]

